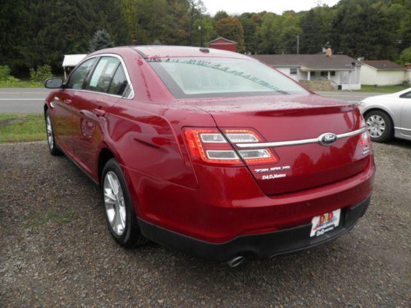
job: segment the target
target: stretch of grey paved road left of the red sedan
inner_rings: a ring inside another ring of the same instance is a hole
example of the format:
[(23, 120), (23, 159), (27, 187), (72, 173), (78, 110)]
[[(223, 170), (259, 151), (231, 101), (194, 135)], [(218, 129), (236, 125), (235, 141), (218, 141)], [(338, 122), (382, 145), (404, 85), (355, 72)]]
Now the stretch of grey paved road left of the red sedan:
[(0, 88), (0, 113), (41, 113), (45, 88)]

